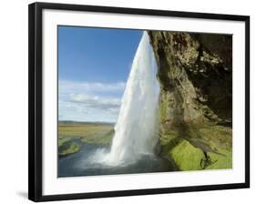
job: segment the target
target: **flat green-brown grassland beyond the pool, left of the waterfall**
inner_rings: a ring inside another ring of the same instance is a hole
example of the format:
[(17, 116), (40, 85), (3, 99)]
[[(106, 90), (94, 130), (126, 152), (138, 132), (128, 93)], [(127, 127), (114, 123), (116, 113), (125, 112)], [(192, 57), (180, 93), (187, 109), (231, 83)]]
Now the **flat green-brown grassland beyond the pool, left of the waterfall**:
[(114, 125), (101, 123), (65, 122), (58, 124), (58, 155), (67, 156), (81, 148), (75, 138), (81, 142), (110, 145), (114, 136)]

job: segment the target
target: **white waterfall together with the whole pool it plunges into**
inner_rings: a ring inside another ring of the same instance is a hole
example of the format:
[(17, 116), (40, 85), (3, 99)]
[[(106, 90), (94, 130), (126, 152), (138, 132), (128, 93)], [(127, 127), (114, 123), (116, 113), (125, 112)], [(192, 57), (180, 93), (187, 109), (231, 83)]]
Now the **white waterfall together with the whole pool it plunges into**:
[(74, 155), (60, 158), (58, 176), (92, 176), (171, 171), (155, 154), (159, 141), (159, 82), (147, 32), (133, 59), (111, 147), (81, 143)]

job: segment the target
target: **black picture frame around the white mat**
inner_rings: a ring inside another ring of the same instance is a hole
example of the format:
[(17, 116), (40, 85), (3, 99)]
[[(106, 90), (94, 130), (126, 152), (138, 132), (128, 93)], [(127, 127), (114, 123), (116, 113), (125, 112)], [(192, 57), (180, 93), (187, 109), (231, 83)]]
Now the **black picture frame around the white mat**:
[[(128, 15), (159, 15), (213, 20), (231, 20), (245, 22), (245, 182), (221, 185), (189, 186), (162, 189), (132, 189), (64, 195), (42, 195), (42, 11), (57, 9), (68, 11), (91, 11), (101, 13)], [(250, 187), (250, 16), (220, 15), (167, 10), (148, 10), (125, 7), (108, 7), (93, 5), (67, 5), (34, 3), (28, 9), (28, 199), (49, 201), (64, 199), (92, 199), (105, 197), (162, 194), (188, 191), (243, 189)]]

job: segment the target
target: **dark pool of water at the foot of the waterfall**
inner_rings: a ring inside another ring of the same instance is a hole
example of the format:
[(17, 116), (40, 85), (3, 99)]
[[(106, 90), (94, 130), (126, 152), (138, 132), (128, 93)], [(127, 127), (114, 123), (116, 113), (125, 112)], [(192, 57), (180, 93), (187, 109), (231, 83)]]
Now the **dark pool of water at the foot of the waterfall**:
[(110, 147), (79, 143), (81, 148), (77, 153), (58, 158), (58, 178), (168, 172), (175, 170), (167, 159), (148, 154), (142, 155), (135, 163), (109, 166), (104, 162), (97, 162), (96, 155), (98, 152), (101, 152), (101, 155), (104, 155), (102, 154), (104, 152), (108, 154)]

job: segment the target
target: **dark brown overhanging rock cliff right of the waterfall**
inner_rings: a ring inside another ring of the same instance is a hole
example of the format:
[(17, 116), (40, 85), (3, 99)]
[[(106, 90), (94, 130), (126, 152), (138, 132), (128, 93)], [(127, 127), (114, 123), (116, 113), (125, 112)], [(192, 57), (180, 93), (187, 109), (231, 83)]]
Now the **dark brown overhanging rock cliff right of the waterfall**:
[(148, 36), (159, 66), (164, 123), (231, 121), (232, 36), (158, 31)]

